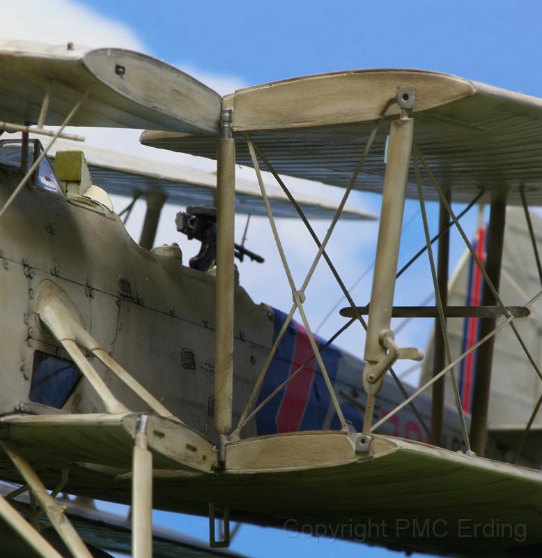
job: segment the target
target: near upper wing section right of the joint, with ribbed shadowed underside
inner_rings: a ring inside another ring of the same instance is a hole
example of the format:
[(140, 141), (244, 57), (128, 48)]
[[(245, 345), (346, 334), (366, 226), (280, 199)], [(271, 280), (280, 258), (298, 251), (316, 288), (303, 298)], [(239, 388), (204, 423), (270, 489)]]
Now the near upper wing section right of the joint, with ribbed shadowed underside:
[[(242, 89), (224, 97), (233, 110), (238, 163), (251, 165), (243, 134), (278, 172), (346, 186), (380, 115), (372, 149), (355, 187), (380, 192), (389, 120), (398, 115), (398, 89), (415, 89), (415, 143), (435, 178), (467, 202), (479, 188), (510, 188), (519, 204), (524, 186), (542, 203), (542, 100), (420, 70), (357, 70), (300, 77)], [(146, 132), (146, 145), (215, 157), (215, 137)], [(438, 199), (421, 173), (427, 199)], [(413, 168), (408, 195), (417, 197)]]

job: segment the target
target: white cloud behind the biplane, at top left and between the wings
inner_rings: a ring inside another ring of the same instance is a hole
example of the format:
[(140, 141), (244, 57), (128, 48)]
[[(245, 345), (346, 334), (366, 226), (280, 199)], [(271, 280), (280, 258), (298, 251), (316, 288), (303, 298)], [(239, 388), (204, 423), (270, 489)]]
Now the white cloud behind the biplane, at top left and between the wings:
[[(68, 43), (72, 41), (80, 45), (92, 47), (125, 47), (139, 52), (148, 52), (148, 47), (141, 41), (134, 31), (125, 24), (111, 20), (91, 8), (71, 0), (20, 0), (5, 2), (2, 6), (3, 17), (0, 23), (0, 36), (6, 39), (36, 40), (52, 44)], [(196, 77), (204, 84), (224, 95), (249, 85), (244, 80), (234, 75), (217, 75), (202, 71), (193, 64), (178, 61), (173, 62), (181, 70)], [(75, 129), (71, 130), (75, 132)], [(202, 158), (194, 158), (183, 153), (172, 153), (160, 149), (153, 149), (139, 144), (141, 130), (104, 130), (103, 128), (77, 129), (77, 133), (86, 136), (86, 144), (97, 146), (112, 151), (121, 151), (135, 156), (156, 160), (157, 163), (170, 162), (200, 169), (211, 170), (215, 163)], [(254, 170), (238, 169), (238, 176), (254, 180)], [(268, 176), (270, 183), (272, 177)], [(318, 195), (327, 200), (338, 202), (343, 190), (339, 188), (315, 186), (309, 181), (287, 179), (288, 187), (305, 195)], [(114, 198), (116, 209), (120, 210), (127, 201), (118, 197)], [(375, 196), (354, 194), (355, 206), (361, 206), (367, 211), (378, 211), (380, 198)], [(180, 242), (185, 252), (185, 263), (194, 252), (197, 252), (197, 243), (183, 241), (176, 232), (174, 218), (178, 206), (167, 204), (162, 213), (162, 219), (157, 232), (156, 243)], [(135, 239), (139, 238), (139, 230), (144, 216), (144, 202), (138, 202), (128, 229)], [(237, 219), (237, 237), (240, 240), (245, 218)], [(327, 231), (328, 222), (314, 224), (318, 236), (323, 239)], [(301, 223), (294, 220), (281, 221), (279, 230), (285, 244), (288, 258), (296, 281), (301, 283), (316, 254), (316, 246), (310, 236), (304, 231)], [(374, 243), (377, 226), (375, 224), (348, 223), (339, 224), (330, 241), (330, 255), (336, 268), (341, 273), (346, 284), (350, 284), (373, 259)], [(277, 249), (270, 233), (270, 228), (265, 218), (253, 218), (249, 228), (247, 246), (261, 253), (266, 261), (259, 265), (253, 262), (243, 262), (240, 267), (240, 278), (249, 294), (256, 302), (265, 301), (272, 306), (288, 310), (291, 306), (291, 293), (289, 291), (284, 270), (282, 269)], [(356, 290), (355, 300), (366, 303), (369, 298), (371, 274)], [(321, 319), (332, 308), (341, 291), (332, 278), (324, 262), (320, 262), (312, 284), (307, 290), (307, 315), (311, 326), (316, 329)], [(342, 305), (341, 305), (342, 306)], [(346, 306), (346, 305), (345, 305)], [(325, 324), (321, 333), (331, 335), (344, 323), (338, 312)], [(339, 345), (350, 349), (355, 354), (360, 354), (363, 347), (364, 336), (357, 329), (350, 329)]]

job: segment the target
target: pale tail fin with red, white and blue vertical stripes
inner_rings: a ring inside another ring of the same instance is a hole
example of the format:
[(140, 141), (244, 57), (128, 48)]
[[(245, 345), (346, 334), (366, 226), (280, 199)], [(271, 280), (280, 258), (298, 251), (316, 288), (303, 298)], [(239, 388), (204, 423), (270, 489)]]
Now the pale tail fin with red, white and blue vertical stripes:
[[(539, 252), (542, 254), (542, 218), (531, 212)], [(473, 246), (483, 259), (486, 228), (479, 227)], [(449, 282), (450, 306), (478, 306), (485, 280), (469, 252), (465, 252)], [(506, 213), (506, 232), (502, 257), (500, 296), (506, 306), (523, 306), (541, 290), (536, 270), (532, 243), (525, 215), (520, 208), (510, 208)], [(531, 307), (531, 315), (517, 319), (516, 326), (537, 365), (542, 368), (542, 300)], [(497, 324), (504, 318), (497, 320)], [(479, 340), (478, 318), (449, 318), (447, 331), (451, 358), (456, 359)], [(421, 385), (431, 379), (433, 368), (433, 335), (426, 351)], [(472, 352), (456, 367), (456, 379), (463, 410), (472, 410), (472, 391), (477, 368), (477, 351)], [(454, 405), (450, 376), (447, 375), (445, 400)], [(489, 430), (506, 426), (507, 432), (521, 432), (542, 393), (541, 379), (527, 360), (516, 336), (505, 327), (495, 336), (495, 353), (491, 375)], [(542, 412), (534, 425), (542, 428)]]

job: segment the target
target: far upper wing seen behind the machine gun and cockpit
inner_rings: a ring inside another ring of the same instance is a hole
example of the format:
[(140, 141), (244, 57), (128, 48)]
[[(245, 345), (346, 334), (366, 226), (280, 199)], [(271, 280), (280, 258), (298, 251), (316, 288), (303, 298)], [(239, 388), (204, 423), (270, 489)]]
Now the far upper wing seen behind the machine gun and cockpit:
[[(56, 142), (51, 149), (81, 149), (78, 145)], [(86, 162), (93, 182), (110, 194), (132, 196), (160, 192), (167, 195), (169, 202), (182, 205), (215, 204), (217, 175), (171, 163), (160, 163), (141, 157), (114, 153), (104, 149), (84, 148)], [(271, 206), (276, 217), (297, 215), (288, 198), (278, 186), (266, 185)], [(238, 213), (265, 215), (265, 206), (256, 181), (236, 179), (235, 210)], [(316, 196), (293, 193), (296, 201), (308, 218), (332, 218), (336, 205)], [(342, 218), (373, 219), (371, 213), (346, 206)]]

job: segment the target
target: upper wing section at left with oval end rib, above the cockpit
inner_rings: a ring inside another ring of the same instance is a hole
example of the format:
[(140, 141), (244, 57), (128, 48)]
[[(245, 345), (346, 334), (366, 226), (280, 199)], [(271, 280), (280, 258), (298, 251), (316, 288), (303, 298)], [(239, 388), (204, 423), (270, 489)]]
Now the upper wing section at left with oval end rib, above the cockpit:
[(130, 50), (0, 43), (0, 120), (58, 126), (88, 91), (72, 126), (216, 133), (222, 97), (160, 60)]

